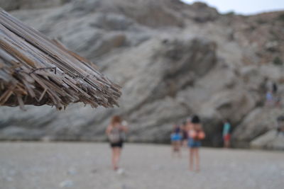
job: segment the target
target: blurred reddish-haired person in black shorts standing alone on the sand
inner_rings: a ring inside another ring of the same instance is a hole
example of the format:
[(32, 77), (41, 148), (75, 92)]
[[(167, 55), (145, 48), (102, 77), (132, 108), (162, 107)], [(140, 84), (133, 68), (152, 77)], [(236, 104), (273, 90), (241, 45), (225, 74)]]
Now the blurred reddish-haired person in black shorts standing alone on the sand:
[(126, 122), (124, 123), (124, 125), (122, 125), (122, 120), (119, 115), (114, 115), (114, 117), (111, 119), (109, 127), (107, 127), (106, 130), (112, 150), (111, 163), (114, 171), (122, 171), (122, 169), (119, 169), (118, 164), (121, 155), (121, 149), (124, 144), (125, 134), (128, 130), (126, 125)]

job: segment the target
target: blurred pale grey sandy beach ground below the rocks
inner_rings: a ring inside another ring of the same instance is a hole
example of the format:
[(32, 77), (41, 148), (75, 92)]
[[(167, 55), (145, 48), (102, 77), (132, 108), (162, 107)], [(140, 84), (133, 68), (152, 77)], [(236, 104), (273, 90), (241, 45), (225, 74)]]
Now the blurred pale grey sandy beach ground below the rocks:
[(188, 170), (170, 146), (126, 144), (111, 170), (105, 143), (0, 143), (0, 188), (284, 188), (284, 152), (201, 149), (201, 171)]

